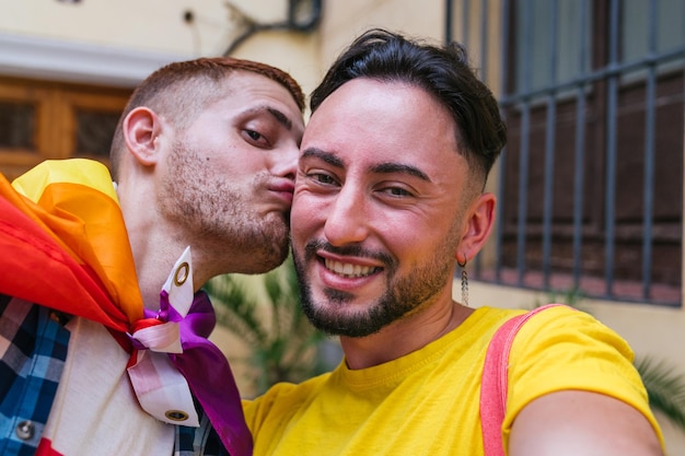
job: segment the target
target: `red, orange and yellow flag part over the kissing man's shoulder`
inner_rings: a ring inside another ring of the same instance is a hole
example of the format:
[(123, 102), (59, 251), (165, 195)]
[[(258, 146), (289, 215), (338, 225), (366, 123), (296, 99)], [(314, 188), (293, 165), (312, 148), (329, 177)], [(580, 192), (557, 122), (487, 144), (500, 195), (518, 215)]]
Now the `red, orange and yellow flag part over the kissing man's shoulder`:
[(45, 162), (12, 186), (0, 175), (0, 252), (7, 271), (15, 271), (0, 279), (0, 292), (115, 330), (142, 318), (132, 253), (104, 165)]

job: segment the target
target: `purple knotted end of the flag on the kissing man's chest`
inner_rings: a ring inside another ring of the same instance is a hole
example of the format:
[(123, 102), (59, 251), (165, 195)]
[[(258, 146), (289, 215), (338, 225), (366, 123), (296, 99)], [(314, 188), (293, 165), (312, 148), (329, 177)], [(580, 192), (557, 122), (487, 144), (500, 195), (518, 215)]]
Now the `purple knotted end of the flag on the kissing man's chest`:
[(190, 391), (200, 402), (231, 456), (252, 455), (252, 434), (245, 423), (240, 393), (225, 356), (207, 338), (217, 323), (214, 309), (204, 291), (195, 293), (184, 318), (160, 293), (160, 311), (146, 309), (147, 318), (178, 323), (183, 353), (169, 353)]

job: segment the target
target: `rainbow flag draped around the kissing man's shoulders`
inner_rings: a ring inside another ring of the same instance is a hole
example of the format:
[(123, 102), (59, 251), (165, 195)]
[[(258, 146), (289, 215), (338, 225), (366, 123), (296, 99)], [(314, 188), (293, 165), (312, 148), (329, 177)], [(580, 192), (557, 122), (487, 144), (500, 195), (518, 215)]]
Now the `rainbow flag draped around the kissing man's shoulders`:
[[(127, 334), (161, 323), (144, 317), (116, 191), (98, 162), (47, 161), (11, 184), (0, 174), (0, 253), (11, 271), (0, 274), (1, 294), (100, 323), (133, 355)], [(172, 360), (224, 446), (252, 454), (228, 361), (206, 336), (183, 343)], [(46, 441), (38, 454), (59, 453)]]

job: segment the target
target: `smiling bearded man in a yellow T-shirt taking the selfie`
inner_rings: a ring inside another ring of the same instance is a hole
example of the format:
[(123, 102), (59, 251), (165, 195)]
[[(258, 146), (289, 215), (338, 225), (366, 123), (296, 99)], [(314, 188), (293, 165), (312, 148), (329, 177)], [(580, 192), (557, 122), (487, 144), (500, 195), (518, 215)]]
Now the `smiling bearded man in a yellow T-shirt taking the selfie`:
[[(490, 234), (486, 177), (506, 143), (463, 48), (373, 30), (311, 97), (291, 212), (303, 308), (340, 337), (332, 373), (244, 402), (255, 455), (484, 455), (479, 396), (496, 330), (524, 311), (452, 299)], [(509, 358), (509, 456), (660, 455), (632, 353), (557, 306)], [(499, 436), (498, 436), (499, 437)]]

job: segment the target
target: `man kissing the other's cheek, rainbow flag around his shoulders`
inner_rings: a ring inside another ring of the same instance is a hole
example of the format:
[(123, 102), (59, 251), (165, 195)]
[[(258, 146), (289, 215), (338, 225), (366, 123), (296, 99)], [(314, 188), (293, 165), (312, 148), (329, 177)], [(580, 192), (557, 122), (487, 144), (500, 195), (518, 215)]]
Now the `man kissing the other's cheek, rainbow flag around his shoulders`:
[(287, 257), (303, 107), (276, 68), (174, 62), (132, 94), (112, 175), (0, 175), (0, 454), (252, 454), (200, 287)]

